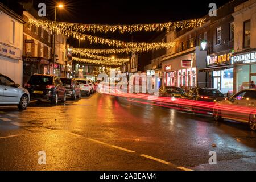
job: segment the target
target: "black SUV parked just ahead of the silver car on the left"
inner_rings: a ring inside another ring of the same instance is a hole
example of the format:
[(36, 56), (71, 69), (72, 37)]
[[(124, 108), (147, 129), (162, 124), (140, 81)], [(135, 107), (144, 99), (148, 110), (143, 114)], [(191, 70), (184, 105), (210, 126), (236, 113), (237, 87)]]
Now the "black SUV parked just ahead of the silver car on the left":
[(57, 105), (59, 100), (66, 101), (66, 89), (60, 78), (54, 75), (34, 74), (25, 88), (32, 100), (48, 100)]

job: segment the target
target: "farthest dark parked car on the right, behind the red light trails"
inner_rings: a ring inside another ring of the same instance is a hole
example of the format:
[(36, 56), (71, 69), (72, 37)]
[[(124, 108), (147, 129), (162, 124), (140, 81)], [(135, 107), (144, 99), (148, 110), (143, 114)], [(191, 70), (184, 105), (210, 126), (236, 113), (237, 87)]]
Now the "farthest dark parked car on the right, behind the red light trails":
[(166, 86), (160, 91), (160, 97), (181, 98), (185, 92), (182, 88), (177, 86)]

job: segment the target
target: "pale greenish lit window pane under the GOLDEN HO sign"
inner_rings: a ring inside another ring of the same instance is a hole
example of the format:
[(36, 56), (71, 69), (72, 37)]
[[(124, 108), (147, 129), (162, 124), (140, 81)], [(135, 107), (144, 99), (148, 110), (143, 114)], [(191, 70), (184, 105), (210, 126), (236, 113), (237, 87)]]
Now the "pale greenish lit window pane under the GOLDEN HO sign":
[(237, 91), (249, 89), (250, 65), (237, 67)]

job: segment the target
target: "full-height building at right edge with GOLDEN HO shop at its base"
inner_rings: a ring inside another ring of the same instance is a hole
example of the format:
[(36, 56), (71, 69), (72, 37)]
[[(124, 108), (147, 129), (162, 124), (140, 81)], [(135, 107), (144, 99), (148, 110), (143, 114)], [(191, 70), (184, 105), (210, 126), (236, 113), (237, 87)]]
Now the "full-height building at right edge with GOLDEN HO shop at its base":
[(234, 92), (251, 88), (256, 81), (256, 0), (236, 6), (234, 13)]

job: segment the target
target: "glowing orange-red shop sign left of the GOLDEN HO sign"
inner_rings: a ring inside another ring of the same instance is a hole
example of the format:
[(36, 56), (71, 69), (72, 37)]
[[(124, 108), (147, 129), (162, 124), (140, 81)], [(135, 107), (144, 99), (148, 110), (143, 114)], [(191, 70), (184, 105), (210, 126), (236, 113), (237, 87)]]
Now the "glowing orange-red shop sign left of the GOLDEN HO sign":
[(207, 56), (207, 65), (229, 64), (233, 53), (212, 54)]

